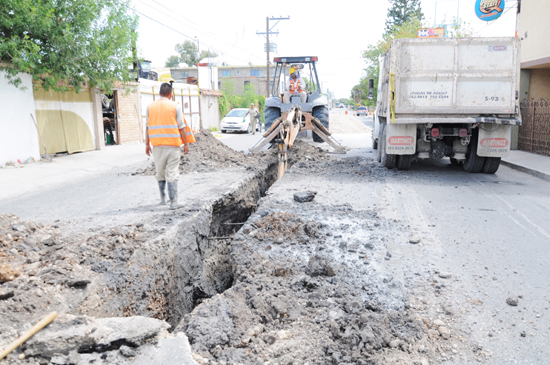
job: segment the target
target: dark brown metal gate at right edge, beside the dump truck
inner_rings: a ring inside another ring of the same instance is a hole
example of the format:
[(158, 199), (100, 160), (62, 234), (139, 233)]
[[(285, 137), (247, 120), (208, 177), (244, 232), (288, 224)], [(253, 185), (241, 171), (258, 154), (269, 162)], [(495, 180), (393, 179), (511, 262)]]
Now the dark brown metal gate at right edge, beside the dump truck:
[(519, 149), (550, 156), (550, 100), (523, 100)]

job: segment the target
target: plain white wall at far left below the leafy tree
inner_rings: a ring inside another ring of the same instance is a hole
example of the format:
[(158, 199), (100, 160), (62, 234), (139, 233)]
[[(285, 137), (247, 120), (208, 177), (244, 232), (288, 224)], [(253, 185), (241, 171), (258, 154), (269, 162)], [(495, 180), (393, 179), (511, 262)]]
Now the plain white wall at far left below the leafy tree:
[(40, 161), (38, 133), (31, 118), (36, 119), (32, 78), (19, 74), (23, 81), (21, 90), (8, 84), (5, 73), (0, 71), (0, 166), (6, 162), (24, 162), (29, 157)]

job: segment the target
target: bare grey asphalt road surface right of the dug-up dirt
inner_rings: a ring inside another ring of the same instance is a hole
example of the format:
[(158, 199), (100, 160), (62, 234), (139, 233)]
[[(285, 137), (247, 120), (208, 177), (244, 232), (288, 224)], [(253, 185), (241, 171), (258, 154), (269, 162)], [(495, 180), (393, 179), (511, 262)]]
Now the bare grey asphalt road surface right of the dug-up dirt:
[[(370, 118), (361, 119), (372, 125)], [(237, 145), (254, 138), (223, 141)], [(373, 158), (374, 152), (367, 146), (348, 156)], [(349, 195), (339, 196), (339, 204), (375, 206), (395, 220), (400, 234), (406, 227), (406, 234), (420, 238), (416, 245), (394, 242), (388, 231), (389, 270), (396, 277), (409, 277), (421, 266), (451, 275), (433, 283), (441, 303), (432, 309), (453, 322), (454, 336), (486, 356), (483, 362), (547, 363), (549, 182), (505, 166), (494, 175), (468, 174), (443, 159), (414, 162), (410, 171), (388, 172), (378, 181), (345, 189)], [(518, 305), (508, 304), (508, 298)], [(455, 357), (452, 363), (470, 361)]]

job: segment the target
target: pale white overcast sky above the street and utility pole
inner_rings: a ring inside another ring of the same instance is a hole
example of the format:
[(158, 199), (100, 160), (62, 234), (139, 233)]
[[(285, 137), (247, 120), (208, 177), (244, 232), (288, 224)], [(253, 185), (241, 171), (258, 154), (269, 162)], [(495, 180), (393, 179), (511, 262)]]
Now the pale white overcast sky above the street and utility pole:
[[(347, 98), (359, 83), (366, 64), (362, 52), (381, 39), (389, 8), (387, 0), (311, 1), (175, 1), (131, 0), (140, 17), (139, 56), (153, 67), (164, 67), (176, 55), (174, 47), (196, 41), (200, 50), (212, 49), (230, 65), (265, 65), (266, 17), (281, 20), (270, 42), (276, 56), (318, 56), (317, 71), (323, 91)], [(475, 15), (475, 0), (421, 0), (426, 25), (459, 16), (479, 37), (514, 36), (516, 1), (506, 0), (498, 20), (487, 23)], [(436, 11), (437, 9), (437, 11)], [(276, 21), (270, 21), (270, 27)], [(195, 38), (196, 37), (196, 38)]]

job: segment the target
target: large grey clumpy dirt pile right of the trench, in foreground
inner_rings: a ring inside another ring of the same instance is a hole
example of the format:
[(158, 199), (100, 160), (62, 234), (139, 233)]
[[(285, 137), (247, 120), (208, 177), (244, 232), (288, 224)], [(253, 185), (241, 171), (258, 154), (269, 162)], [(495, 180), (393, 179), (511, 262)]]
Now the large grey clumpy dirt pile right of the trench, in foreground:
[(246, 233), (260, 224), (270, 237), (276, 229), (295, 237), (311, 214), (302, 207), (253, 217), (233, 242), (234, 285), (186, 315), (176, 332), (203, 364), (426, 363), (425, 326), (405, 309), (399, 284), (377, 272), (383, 243), (342, 237), (372, 235), (374, 212), (329, 213), (307, 245)]

